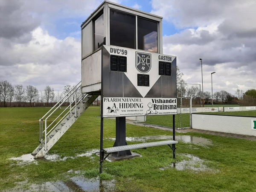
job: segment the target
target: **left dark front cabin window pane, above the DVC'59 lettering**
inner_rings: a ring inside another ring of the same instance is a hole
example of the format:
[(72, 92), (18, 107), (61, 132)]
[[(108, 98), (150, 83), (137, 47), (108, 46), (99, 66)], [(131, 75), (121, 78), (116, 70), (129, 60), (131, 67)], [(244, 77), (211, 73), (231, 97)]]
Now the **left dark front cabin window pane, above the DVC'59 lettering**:
[(136, 17), (110, 9), (110, 44), (136, 49)]

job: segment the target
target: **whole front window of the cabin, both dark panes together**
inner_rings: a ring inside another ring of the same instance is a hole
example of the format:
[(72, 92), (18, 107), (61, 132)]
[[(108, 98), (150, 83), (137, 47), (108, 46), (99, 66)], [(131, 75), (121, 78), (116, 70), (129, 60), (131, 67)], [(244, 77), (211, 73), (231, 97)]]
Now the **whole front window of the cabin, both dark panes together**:
[[(136, 40), (137, 19), (137, 40)], [(110, 9), (110, 44), (158, 52), (158, 23), (143, 17)], [(137, 46), (136, 46), (137, 42)]]

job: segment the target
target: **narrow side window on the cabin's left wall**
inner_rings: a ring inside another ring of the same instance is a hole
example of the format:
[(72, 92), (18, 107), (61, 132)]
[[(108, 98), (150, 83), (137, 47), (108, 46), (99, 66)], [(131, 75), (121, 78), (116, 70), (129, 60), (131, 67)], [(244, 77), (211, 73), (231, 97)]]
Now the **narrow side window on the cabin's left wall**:
[(98, 44), (102, 44), (104, 41), (104, 17), (103, 13), (94, 20), (94, 48), (95, 51), (98, 49)]

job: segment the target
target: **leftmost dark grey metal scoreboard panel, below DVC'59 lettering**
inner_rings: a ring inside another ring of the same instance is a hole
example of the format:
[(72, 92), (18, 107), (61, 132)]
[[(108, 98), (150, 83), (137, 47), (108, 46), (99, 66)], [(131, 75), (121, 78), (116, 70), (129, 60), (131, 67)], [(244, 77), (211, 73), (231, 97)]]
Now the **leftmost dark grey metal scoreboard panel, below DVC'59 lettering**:
[(102, 71), (103, 96), (123, 97), (123, 73), (110, 71), (110, 54), (104, 46), (102, 47)]

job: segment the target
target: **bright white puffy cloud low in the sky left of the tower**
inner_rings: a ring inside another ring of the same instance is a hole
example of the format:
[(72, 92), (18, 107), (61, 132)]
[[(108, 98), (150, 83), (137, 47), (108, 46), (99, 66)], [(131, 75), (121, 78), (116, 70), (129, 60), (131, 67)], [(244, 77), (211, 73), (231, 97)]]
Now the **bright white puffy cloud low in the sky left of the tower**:
[(81, 80), (81, 42), (75, 38), (59, 40), (38, 27), (32, 31), (31, 41), (13, 48), (9, 49), (13, 55), (8, 58), (9, 65), (0, 70), (0, 79), (38, 89)]

